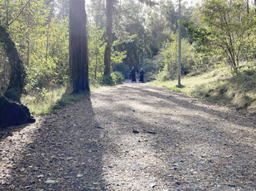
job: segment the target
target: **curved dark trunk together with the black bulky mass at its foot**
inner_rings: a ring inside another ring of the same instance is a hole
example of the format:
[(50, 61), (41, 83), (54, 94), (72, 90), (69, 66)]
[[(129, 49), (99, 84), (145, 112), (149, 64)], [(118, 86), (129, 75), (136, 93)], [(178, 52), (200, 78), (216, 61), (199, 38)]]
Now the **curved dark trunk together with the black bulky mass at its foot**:
[(28, 107), (20, 104), (23, 91), (25, 70), (14, 42), (6, 29), (0, 23), (0, 42), (7, 52), (11, 66), (11, 77), (7, 91), (0, 96), (0, 129), (13, 125), (23, 125), (35, 122)]

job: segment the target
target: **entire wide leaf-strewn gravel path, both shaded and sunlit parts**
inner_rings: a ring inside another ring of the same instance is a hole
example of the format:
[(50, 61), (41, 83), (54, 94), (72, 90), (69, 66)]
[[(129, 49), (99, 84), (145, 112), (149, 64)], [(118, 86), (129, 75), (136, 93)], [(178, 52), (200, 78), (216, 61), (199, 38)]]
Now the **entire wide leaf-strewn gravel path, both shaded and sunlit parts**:
[(101, 87), (37, 120), (0, 140), (0, 190), (256, 188), (255, 117), (158, 86)]

